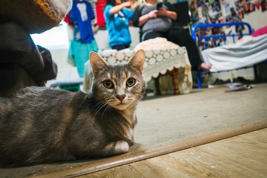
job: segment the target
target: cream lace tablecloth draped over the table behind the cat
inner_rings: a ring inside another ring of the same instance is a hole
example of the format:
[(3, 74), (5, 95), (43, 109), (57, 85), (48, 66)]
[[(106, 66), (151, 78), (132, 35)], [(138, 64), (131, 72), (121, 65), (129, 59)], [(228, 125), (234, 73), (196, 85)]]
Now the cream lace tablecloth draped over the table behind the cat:
[[(115, 53), (102, 53), (100, 56), (109, 64), (127, 63), (134, 53), (135, 51), (129, 50), (118, 51)], [(143, 75), (147, 81), (150, 81), (152, 77), (158, 77), (160, 74), (164, 75), (166, 74), (167, 70), (173, 70), (173, 67), (175, 67), (179, 69), (178, 81), (180, 93), (190, 93), (193, 82), (191, 65), (185, 47), (182, 46), (173, 49), (145, 50), (145, 54), (146, 59), (144, 63)], [(88, 91), (91, 87), (91, 82), (94, 76), (89, 60), (85, 63), (84, 71), (84, 90)], [(160, 80), (161, 90), (171, 90), (166, 89), (168, 86), (169, 84), (166, 83), (166, 80)]]

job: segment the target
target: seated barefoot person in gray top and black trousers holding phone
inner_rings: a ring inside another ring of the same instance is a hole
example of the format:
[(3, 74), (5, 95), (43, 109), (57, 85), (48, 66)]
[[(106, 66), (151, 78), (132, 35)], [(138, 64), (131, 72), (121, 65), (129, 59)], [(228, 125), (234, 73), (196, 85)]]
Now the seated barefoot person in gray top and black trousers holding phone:
[(140, 41), (164, 37), (179, 46), (185, 46), (193, 70), (210, 69), (211, 65), (200, 59), (195, 41), (186, 29), (179, 26), (179, 12), (169, 2), (138, 0), (133, 25), (140, 28)]

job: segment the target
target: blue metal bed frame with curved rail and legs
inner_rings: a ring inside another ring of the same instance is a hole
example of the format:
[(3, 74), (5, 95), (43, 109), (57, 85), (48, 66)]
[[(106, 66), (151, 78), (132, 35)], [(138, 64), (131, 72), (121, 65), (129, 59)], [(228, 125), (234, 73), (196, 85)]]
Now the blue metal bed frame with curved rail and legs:
[[(202, 37), (196, 37), (195, 36), (195, 32), (196, 32), (196, 29), (197, 28), (208, 28), (208, 27), (223, 27), (223, 26), (233, 26), (233, 25), (246, 25), (248, 30), (249, 30), (249, 33), (240, 33), (240, 34), (230, 34), (230, 35), (211, 35), (211, 36), (202, 36)], [(224, 43), (226, 44), (226, 37), (233, 37), (233, 42), (235, 43), (235, 37), (236, 36), (240, 36), (240, 37), (243, 37), (244, 35), (251, 35), (252, 34), (252, 28), (250, 26), (250, 24), (246, 23), (246, 22), (236, 22), (236, 23), (221, 23), (221, 24), (197, 24), (197, 25), (194, 25), (192, 28), (191, 28), (191, 32), (192, 32), (192, 38), (193, 40), (195, 41), (195, 43), (198, 45), (198, 40), (199, 39), (204, 39), (205, 40), (205, 46), (206, 46), (206, 49), (208, 48), (207, 46), (207, 39), (210, 39), (210, 38), (214, 38), (214, 39), (218, 39), (218, 38), (223, 38), (224, 39)], [(217, 47), (217, 43), (215, 42), (215, 47)], [(254, 76), (255, 76), (255, 80), (257, 79), (257, 67), (256, 65), (253, 66), (254, 68)], [(200, 75), (201, 74), (204, 74), (204, 73), (210, 73), (209, 71), (204, 71), (204, 70), (198, 70), (197, 71), (197, 82), (198, 82), (198, 88), (199, 89), (202, 89), (202, 85), (201, 85), (201, 80), (200, 80)], [(222, 72), (222, 71), (221, 71)]]

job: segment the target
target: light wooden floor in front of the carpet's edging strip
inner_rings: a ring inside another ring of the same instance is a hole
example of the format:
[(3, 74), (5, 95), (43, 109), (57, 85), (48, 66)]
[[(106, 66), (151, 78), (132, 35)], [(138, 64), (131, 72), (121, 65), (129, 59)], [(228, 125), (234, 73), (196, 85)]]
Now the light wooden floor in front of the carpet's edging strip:
[(94, 177), (267, 177), (267, 128), (93, 172)]

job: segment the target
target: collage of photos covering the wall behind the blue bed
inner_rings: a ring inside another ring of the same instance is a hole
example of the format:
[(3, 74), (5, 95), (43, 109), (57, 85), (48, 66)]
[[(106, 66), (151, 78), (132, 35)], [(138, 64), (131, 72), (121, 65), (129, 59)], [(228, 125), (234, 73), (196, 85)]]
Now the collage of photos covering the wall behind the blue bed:
[[(196, 24), (211, 24), (211, 23), (223, 23), (223, 22), (242, 22), (244, 15), (248, 15), (254, 11), (266, 11), (267, 0), (235, 0), (234, 6), (230, 7), (228, 0), (222, 0), (222, 5), (225, 8), (225, 17), (222, 17), (221, 6), (219, 0), (188, 0), (190, 4), (190, 11), (193, 25)], [(235, 29), (229, 27), (207, 27), (207, 28), (197, 28), (196, 37), (211, 36), (211, 35), (230, 35), (231, 34), (242, 34), (244, 30), (243, 25), (236, 25)], [(242, 35), (238, 36), (238, 39)], [(200, 50), (221, 46), (225, 44), (225, 38), (213, 37), (207, 38), (205, 40), (199, 40), (198, 46)], [(207, 45), (206, 45), (207, 44)]]

